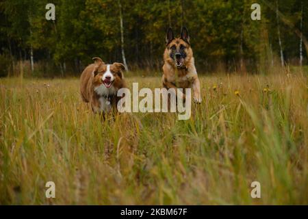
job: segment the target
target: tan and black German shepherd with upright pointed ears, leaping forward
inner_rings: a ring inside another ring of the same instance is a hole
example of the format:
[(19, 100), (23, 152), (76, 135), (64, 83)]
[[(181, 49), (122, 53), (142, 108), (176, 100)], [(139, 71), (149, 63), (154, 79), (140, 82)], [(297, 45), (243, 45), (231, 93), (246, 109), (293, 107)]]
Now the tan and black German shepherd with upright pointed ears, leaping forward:
[(175, 38), (172, 29), (168, 28), (163, 71), (164, 88), (192, 88), (194, 101), (201, 103), (200, 81), (194, 66), (190, 36), (185, 27), (181, 30), (180, 38)]

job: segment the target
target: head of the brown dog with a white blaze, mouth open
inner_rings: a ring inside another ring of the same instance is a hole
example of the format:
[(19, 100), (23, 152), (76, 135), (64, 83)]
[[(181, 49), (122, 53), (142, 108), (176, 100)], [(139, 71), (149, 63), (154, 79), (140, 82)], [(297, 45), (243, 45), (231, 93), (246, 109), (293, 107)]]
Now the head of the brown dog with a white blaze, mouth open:
[(93, 70), (94, 90), (99, 95), (114, 95), (119, 88), (123, 87), (123, 64), (95, 63)]

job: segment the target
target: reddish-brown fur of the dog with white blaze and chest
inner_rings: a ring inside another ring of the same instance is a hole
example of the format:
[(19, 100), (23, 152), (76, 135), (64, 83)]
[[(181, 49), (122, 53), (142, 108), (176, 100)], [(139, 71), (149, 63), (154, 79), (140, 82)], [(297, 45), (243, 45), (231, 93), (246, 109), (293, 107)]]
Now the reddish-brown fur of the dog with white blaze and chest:
[[(81, 98), (86, 103), (90, 103), (93, 112), (102, 112), (100, 98), (103, 95), (98, 94), (95, 89), (103, 85), (101, 77), (107, 70), (107, 64), (105, 64), (100, 58), (93, 58), (94, 64), (87, 66), (80, 77), (80, 93)], [(110, 72), (114, 76), (114, 82), (112, 83), (112, 91), (114, 95), (110, 96), (110, 102), (112, 109), (116, 110), (116, 104), (120, 100), (120, 97), (116, 96), (116, 92), (120, 88), (125, 88), (125, 81), (123, 77), (123, 64), (115, 62), (110, 64)], [(107, 88), (104, 88), (105, 90)]]

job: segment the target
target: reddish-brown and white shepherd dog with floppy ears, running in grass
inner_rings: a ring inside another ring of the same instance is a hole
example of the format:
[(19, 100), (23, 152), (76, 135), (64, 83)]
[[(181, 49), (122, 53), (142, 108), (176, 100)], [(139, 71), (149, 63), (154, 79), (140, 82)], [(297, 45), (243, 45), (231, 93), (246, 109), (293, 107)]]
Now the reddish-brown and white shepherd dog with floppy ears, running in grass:
[(94, 57), (94, 64), (87, 66), (80, 77), (81, 97), (90, 103), (93, 112), (110, 112), (116, 110), (117, 96), (120, 88), (125, 88), (123, 71), (125, 66), (121, 63), (105, 64), (99, 57)]

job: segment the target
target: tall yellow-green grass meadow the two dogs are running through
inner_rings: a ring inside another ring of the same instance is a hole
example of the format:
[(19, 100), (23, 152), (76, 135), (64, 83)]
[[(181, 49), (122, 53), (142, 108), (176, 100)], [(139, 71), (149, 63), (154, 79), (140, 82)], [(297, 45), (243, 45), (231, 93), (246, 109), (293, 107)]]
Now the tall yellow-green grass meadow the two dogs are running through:
[[(131, 74), (133, 75), (133, 74)], [(127, 76), (160, 88), (160, 77)], [(203, 103), (101, 121), (79, 79), (0, 79), (0, 204), (308, 204), (307, 73), (201, 76)], [(46, 198), (45, 183), (55, 183)], [(251, 198), (251, 183), (261, 198)]]

